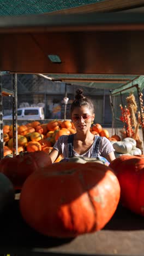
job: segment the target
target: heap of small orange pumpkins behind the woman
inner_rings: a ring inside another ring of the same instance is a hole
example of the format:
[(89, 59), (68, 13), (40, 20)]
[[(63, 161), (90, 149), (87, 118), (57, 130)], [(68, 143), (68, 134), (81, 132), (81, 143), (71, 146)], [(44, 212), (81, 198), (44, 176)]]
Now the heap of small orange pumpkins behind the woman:
[[(17, 141), (19, 152), (35, 152), (42, 150), (50, 153), (57, 139), (62, 135), (70, 135), (75, 133), (76, 129), (73, 122), (69, 120), (52, 120), (46, 124), (40, 124), (39, 121), (33, 121), (26, 125), (17, 126)], [(109, 132), (102, 129), (100, 124), (94, 124), (91, 127), (91, 132), (95, 135), (109, 137)], [(13, 152), (13, 126), (3, 126), (4, 140), (4, 156), (10, 155)], [(62, 156), (56, 161), (60, 161)]]

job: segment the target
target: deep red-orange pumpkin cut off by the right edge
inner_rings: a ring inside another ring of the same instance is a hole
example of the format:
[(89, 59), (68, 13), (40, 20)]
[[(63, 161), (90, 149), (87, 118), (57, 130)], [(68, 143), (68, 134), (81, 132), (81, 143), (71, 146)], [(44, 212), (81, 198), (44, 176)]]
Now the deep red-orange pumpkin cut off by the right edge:
[(144, 216), (144, 158), (120, 156), (110, 163), (121, 187), (121, 202), (129, 210)]

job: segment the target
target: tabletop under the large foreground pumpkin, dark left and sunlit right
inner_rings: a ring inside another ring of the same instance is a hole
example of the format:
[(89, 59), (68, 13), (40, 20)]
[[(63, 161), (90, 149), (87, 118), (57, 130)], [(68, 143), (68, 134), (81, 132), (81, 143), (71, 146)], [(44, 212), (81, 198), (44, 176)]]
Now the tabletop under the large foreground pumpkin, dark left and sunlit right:
[(0, 226), (0, 254), (144, 254), (144, 218), (121, 205), (103, 230), (71, 239), (46, 237), (31, 229), (21, 217), (19, 200), (3, 212)]

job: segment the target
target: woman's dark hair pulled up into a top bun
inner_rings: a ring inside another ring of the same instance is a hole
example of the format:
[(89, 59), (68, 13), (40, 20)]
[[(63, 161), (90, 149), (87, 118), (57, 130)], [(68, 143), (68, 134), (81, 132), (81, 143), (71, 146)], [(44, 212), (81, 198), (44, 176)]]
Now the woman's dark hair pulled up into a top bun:
[(93, 102), (89, 97), (83, 95), (83, 91), (81, 89), (76, 90), (75, 100), (71, 104), (70, 113), (77, 107), (87, 106), (87, 108), (91, 109), (94, 113)]

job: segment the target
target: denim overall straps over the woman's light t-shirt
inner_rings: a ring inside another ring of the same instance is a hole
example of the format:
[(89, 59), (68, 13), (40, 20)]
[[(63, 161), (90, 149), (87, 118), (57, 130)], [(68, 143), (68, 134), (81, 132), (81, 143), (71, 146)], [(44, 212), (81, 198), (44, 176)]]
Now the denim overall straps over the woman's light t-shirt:
[[(96, 136), (94, 139), (93, 152), (92, 152), (91, 158), (97, 158), (97, 156), (98, 156), (100, 138), (101, 138), (100, 136)], [(73, 156), (74, 156), (73, 141), (74, 141), (74, 134), (71, 134), (68, 136), (68, 158), (73, 158)]]

